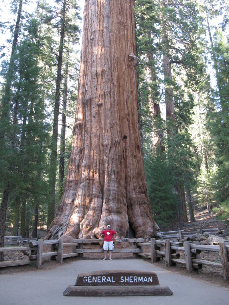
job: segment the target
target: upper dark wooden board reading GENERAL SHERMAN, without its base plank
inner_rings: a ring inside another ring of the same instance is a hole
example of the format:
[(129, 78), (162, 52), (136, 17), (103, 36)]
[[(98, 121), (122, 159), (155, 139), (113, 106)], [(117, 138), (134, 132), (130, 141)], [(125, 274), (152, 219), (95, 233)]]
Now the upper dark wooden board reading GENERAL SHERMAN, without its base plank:
[(75, 285), (159, 285), (159, 281), (157, 274), (154, 272), (133, 270), (103, 270), (79, 274)]

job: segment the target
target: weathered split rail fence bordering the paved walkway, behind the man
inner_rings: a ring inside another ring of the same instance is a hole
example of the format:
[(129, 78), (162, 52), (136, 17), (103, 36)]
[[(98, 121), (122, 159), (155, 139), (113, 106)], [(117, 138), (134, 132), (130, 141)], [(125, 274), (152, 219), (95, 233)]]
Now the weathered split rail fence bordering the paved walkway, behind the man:
[[(102, 242), (102, 241), (101, 241)], [(167, 267), (175, 264), (186, 266), (187, 272), (202, 269), (203, 265), (221, 268), (223, 270), (224, 281), (229, 283), (229, 246), (220, 243), (219, 246), (199, 245), (198, 242), (173, 242), (170, 240), (151, 239), (150, 242), (144, 242), (143, 238), (138, 239), (119, 239), (115, 243), (132, 243), (131, 248), (114, 248), (114, 253), (133, 253), (133, 257), (151, 258), (151, 262), (165, 258)], [(98, 239), (73, 239), (72, 242), (64, 243), (63, 239), (30, 241), (28, 246), (15, 246), (0, 248), (0, 252), (6, 251), (28, 251), (28, 258), (24, 260), (13, 260), (0, 262), (0, 267), (18, 266), (25, 264), (35, 264), (37, 268), (42, 265), (44, 257), (50, 257), (62, 264), (66, 257), (79, 256), (83, 258), (84, 253), (103, 253), (103, 249), (85, 249), (85, 244), (100, 243)], [(50, 252), (43, 252), (43, 246), (51, 246)], [(64, 253), (64, 247), (71, 247), (71, 253)], [(145, 248), (147, 248), (145, 250)], [(148, 252), (146, 252), (148, 251)], [(213, 262), (201, 258), (201, 252), (215, 251), (219, 254), (221, 262)], [(180, 258), (180, 253), (185, 258)]]

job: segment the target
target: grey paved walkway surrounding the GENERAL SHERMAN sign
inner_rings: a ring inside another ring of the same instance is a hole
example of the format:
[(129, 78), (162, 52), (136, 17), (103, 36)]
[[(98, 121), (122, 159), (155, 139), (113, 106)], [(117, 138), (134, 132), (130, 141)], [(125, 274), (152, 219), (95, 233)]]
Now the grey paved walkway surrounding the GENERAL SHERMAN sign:
[[(75, 285), (78, 273), (97, 270), (154, 271), (160, 285), (167, 285), (172, 296), (70, 297), (63, 296), (68, 285)], [(55, 269), (0, 274), (1, 305), (226, 305), (229, 289), (172, 273), (144, 260), (77, 260)]]

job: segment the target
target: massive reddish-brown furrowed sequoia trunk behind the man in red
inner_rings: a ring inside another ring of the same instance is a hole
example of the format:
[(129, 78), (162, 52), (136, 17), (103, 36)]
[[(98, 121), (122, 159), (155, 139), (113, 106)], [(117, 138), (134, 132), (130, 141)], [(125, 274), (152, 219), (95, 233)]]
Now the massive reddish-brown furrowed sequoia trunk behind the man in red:
[(47, 238), (94, 238), (110, 224), (149, 239), (137, 112), (134, 0), (86, 0), (78, 105), (64, 192)]

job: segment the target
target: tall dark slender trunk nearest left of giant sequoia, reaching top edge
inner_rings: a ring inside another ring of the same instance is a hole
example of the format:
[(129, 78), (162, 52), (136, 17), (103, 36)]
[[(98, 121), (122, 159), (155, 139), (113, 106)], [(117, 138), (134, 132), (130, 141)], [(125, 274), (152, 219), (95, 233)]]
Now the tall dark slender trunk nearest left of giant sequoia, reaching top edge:
[(60, 30), (60, 44), (58, 52), (57, 62), (57, 76), (56, 76), (56, 92), (55, 92), (55, 104), (53, 114), (53, 134), (52, 134), (52, 152), (51, 152), (51, 164), (50, 164), (50, 175), (49, 182), (51, 185), (51, 202), (48, 206), (48, 220), (47, 227), (49, 227), (51, 221), (54, 218), (55, 212), (55, 193), (56, 193), (56, 159), (57, 159), (57, 140), (58, 140), (58, 122), (59, 122), (59, 109), (60, 109), (60, 84), (61, 84), (61, 71), (62, 71), (62, 60), (63, 60), (63, 49), (64, 49), (64, 25), (65, 25), (65, 7), (66, 0), (62, 2), (61, 12), (61, 30)]

